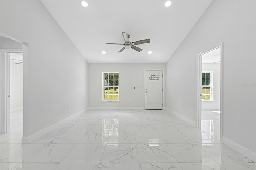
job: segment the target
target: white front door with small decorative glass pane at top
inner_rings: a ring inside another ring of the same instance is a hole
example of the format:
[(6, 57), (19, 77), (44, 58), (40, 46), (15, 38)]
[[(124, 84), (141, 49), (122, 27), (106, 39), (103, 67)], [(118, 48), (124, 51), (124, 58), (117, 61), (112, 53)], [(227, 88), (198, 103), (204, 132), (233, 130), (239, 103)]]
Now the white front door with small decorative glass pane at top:
[(145, 71), (145, 109), (163, 109), (163, 71)]

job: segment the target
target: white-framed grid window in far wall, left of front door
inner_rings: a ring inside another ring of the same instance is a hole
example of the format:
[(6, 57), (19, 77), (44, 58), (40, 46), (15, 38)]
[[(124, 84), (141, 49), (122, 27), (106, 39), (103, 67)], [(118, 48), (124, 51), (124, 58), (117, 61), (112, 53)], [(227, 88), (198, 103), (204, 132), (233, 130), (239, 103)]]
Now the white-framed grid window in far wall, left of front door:
[(119, 101), (119, 72), (102, 72), (102, 101)]

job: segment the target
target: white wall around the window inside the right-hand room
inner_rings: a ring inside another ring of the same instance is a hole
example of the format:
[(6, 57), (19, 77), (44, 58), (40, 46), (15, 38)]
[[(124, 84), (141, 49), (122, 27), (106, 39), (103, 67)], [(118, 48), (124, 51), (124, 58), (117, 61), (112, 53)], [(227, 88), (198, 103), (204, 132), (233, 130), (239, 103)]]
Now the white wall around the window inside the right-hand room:
[(213, 71), (213, 101), (202, 101), (202, 110), (220, 110), (220, 64), (202, 64), (202, 71)]

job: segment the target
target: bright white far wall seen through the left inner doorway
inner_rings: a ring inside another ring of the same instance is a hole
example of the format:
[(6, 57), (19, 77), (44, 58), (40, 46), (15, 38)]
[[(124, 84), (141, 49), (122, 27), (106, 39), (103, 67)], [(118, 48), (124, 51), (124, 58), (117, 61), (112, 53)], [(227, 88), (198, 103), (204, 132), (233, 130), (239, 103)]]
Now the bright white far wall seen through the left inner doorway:
[(10, 61), (10, 111), (22, 108), (22, 64)]

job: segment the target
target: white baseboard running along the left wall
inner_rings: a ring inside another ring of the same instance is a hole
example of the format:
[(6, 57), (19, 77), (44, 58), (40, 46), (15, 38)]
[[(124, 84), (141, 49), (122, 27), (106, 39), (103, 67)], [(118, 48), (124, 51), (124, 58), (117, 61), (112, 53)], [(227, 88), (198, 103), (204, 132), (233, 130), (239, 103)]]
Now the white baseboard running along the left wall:
[(40, 136), (50, 132), (51, 130), (54, 130), (56, 127), (60, 126), (60, 125), (63, 125), (64, 123), (66, 123), (67, 121), (70, 121), (71, 119), (73, 119), (74, 117), (86, 112), (88, 109), (83, 109), (77, 113), (75, 113), (74, 115), (71, 115), (70, 117), (67, 117), (47, 128), (44, 128), (43, 130), (40, 130), (39, 132), (36, 132), (28, 137), (22, 137), (22, 143), (30, 143), (32, 142), (33, 140), (36, 140), (37, 138), (39, 138)]

